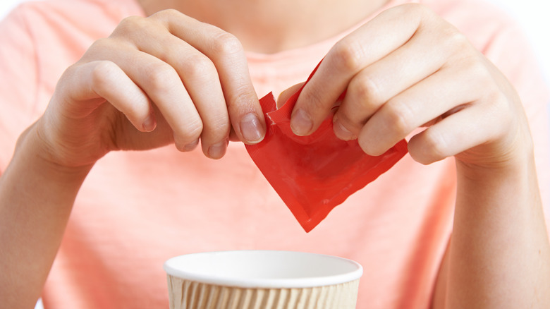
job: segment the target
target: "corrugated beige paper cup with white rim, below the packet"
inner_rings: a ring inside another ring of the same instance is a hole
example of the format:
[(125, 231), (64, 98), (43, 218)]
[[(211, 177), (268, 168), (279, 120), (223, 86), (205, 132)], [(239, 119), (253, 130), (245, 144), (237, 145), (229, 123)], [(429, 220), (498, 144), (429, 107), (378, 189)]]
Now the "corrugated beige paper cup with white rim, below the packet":
[(362, 267), (331, 255), (240, 250), (164, 263), (171, 309), (355, 309)]

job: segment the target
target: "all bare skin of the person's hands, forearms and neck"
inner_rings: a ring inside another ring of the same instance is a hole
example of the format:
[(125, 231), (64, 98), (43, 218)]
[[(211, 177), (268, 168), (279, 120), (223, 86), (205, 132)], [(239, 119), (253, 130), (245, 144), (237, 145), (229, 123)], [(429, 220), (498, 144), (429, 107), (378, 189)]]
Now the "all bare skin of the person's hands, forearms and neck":
[[(104, 154), (170, 143), (185, 152), (200, 140), (217, 159), (230, 138), (258, 143), (265, 128), (244, 51), (323, 40), (384, 2), (140, 1), (150, 17), (124, 20), (67, 69), (1, 175), (2, 304), (33, 308), (80, 185)], [(456, 159), (453, 234), (433, 308), (550, 308), (532, 139), (498, 68), (445, 20), (411, 4), (331, 49), (296, 103), (293, 131), (312, 133), (346, 89), (334, 116), (338, 138), (357, 138), (376, 155), (423, 126), (410, 156), (422, 164)]]

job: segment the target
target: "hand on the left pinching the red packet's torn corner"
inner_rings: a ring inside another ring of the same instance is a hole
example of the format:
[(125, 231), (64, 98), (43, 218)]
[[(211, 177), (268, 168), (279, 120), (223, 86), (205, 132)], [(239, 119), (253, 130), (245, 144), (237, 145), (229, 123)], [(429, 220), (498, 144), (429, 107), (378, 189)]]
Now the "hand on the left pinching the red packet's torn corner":
[[(63, 73), (35, 130), (61, 166), (111, 150), (175, 143), (221, 158), (232, 140), (258, 143), (262, 109), (240, 42), (178, 11), (123, 20)], [(233, 128), (233, 129), (232, 129)]]

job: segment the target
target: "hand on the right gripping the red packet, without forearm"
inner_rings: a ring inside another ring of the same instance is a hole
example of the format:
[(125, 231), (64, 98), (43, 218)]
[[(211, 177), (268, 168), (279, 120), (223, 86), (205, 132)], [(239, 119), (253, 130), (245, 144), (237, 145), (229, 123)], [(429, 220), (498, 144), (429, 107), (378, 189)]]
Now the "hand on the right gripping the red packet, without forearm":
[(338, 42), (302, 90), (291, 126), (312, 133), (341, 93), (334, 132), (379, 155), (415, 131), (412, 158), (449, 156), (469, 166), (529, 153), (513, 87), (456, 28), (417, 4), (391, 8)]

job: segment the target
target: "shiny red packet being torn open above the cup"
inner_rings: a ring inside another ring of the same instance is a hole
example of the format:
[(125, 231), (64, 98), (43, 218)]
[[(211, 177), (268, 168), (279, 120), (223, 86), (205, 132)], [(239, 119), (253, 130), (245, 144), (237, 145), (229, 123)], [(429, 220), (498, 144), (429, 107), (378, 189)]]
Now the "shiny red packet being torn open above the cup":
[(276, 109), (272, 93), (259, 100), (267, 133), (261, 143), (246, 148), (302, 228), (309, 232), (334, 207), (384, 174), (408, 150), (407, 142), (401, 140), (381, 156), (369, 156), (357, 140), (336, 138), (332, 129), (334, 114), (311, 135), (295, 135), (290, 125), (291, 113), (301, 91), (281, 109)]

